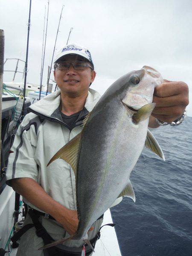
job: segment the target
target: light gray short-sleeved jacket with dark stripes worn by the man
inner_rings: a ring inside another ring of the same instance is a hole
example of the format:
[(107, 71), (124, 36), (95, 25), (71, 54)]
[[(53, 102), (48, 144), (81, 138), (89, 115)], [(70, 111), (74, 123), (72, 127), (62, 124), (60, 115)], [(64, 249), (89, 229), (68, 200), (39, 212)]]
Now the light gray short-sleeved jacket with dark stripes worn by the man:
[[(32, 111), (20, 124), (7, 166), (7, 184), (19, 177), (30, 177), (38, 182), (43, 189), (63, 206), (76, 209), (76, 186), (73, 169), (64, 160), (55, 160), (47, 167), (52, 156), (73, 137), (81, 132), (80, 126), (84, 116), (92, 111), (100, 95), (89, 89), (85, 102), (85, 110), (79, 116), (76, 127), (70, 131), (64, 124), (59, 105), (60, 90), (51, 93), (31, 105)], [(35, 209), (25, 198), (24, 201)], [(38, 209), (40, 210), (40, 209)]]

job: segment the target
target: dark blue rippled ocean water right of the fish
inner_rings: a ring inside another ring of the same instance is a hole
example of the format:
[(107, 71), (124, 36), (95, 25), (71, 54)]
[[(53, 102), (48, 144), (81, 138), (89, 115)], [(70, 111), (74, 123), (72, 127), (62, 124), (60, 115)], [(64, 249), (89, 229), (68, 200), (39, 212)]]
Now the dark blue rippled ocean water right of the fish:
[(111, 209), (122, 256), (192, 256), (192, 117), (151, 129), (166, 162), (144, 149), (130, 198)]

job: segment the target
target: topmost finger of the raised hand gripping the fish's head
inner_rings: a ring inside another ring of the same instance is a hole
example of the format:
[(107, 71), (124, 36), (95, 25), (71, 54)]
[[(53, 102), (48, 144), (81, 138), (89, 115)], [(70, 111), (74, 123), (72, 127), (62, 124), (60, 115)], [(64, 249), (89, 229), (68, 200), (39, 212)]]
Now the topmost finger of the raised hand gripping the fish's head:
[(186, 95), (188, 92), (188, 86), (184, 82), (164, 82), (157, 85), (154, 89), (154, 95), (158, 97), (169, 97), (178, 94)]

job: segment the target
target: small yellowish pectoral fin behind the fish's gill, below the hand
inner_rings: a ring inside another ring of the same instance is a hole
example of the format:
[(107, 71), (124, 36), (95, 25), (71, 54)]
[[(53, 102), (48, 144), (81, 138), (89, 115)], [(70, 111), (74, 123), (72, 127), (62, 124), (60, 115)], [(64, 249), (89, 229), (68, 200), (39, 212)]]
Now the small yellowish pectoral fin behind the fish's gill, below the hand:
[(138, 123), (140, 121), (143, 121), (147, 119), (149, 116), (151, 116), (151, 113), (155, 107), (156, 103), (148, 103), (141, 107), (137, 113), (134, 113), (132, 116), (132, 120), (134, 123)]

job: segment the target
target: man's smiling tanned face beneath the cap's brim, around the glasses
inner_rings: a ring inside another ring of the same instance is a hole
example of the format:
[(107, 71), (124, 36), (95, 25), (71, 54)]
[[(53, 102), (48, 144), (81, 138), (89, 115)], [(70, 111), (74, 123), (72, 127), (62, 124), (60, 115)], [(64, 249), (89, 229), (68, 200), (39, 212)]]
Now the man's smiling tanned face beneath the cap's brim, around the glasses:
[[(80, 55), (66, 55), (61, 61), (85, 61)], [(89, 61), (87, 61), (89, 63)], [(67, 70), (54, 70), (54, 77), (61, 93), (76, 97), (87, 93), (90, 83), (95, 79), (96, 73), (90, 67), (83, 70), (75, 70), (72, 65)]]

